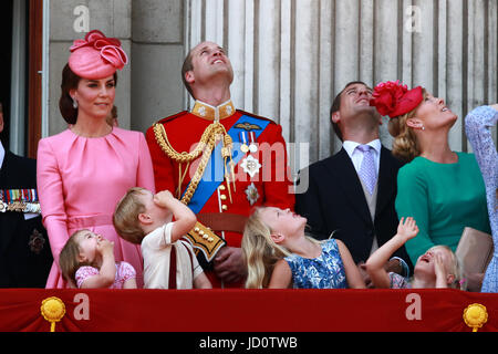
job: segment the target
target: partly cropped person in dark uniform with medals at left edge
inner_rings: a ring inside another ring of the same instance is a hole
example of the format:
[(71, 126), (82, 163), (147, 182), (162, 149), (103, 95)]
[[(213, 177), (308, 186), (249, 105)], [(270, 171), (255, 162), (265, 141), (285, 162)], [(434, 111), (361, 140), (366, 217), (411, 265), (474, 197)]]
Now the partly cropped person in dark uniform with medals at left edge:
[(53, 259), (35, 190), (37, 162), (6, 150), (0, 142), (0, 288), (45, 287)]

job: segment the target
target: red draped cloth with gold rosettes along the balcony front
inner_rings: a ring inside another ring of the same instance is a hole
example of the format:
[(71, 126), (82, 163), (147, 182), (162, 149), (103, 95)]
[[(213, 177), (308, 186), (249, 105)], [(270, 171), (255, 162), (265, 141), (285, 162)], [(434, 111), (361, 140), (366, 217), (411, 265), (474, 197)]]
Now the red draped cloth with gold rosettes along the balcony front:
[[(191, 321), (199, 304), (221, 305), (209, 321)], [(497, 332), (498, 296), (455, 289), (0, 289), (0, 332), (48, 332), (45, 320), (58, 332)]]

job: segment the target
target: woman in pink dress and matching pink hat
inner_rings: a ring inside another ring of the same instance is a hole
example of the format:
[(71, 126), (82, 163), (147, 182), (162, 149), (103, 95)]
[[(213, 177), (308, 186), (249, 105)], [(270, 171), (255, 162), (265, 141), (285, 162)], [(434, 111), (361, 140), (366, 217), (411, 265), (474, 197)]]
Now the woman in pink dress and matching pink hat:
[(106, 123), (113, 105), (116, 69), (127, 63), (117, 39), (91, 31), (74, 41), (62, 72), (59, 107), (66, 131), (38, 146), (38, 186), (43, 223), (54, 262), (46, 288), (65, 288), (59, 254), (76, 230), (89, 229), (114, 242), (116, 261), (136, 270), (143, 285), (139, 247), (120, 238), (112, 215), (128, 188), (155, 190), (154, 174), (143, 133)]

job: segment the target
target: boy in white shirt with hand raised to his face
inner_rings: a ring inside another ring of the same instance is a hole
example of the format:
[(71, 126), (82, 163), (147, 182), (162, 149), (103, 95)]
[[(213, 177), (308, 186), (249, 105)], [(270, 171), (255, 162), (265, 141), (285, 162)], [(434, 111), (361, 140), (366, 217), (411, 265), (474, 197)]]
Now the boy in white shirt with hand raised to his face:
[(121, 199), (113, 216), (114, 227), (122, 238), (141, 244), (144, 288), (211, 288), (190, 243), (181, 240), (196, 221), (194, 212), (168, 190), (153, 195), (135, 187)]

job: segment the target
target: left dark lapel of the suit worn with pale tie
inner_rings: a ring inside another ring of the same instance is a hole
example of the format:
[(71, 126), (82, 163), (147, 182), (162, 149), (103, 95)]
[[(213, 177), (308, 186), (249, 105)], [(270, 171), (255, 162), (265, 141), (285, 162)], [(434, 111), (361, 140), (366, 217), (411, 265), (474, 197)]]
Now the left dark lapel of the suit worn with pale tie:
[[(326, 165), (328, 170), (333, 175), (332, 180), (338, 184), (339, 188), (344, 190), (347, 200), (354, 206), (353, 209), (365, 220), (365, 222), (372, 222), (366, 198), (360, 178), (354, 169), (353, 162), (344, 148), (342, 148), (334, 157), (335, 158), (330, 159)], [(341, 201), (338, 200), (338, 202), (340, 204)]]

